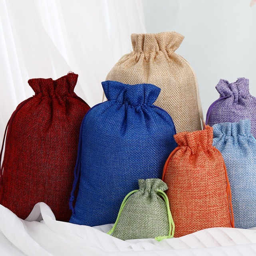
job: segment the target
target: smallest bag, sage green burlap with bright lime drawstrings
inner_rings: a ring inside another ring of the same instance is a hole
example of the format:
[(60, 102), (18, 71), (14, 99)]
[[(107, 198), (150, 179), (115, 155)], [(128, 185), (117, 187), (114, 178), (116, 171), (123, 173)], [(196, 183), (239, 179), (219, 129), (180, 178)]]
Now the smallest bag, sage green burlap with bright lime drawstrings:
[(122, 239), (172, 238), (175, 225), (167, 185), (161, 179), (140, 179), (139, 189), (125, 196), (117, 220), (107, 234)]

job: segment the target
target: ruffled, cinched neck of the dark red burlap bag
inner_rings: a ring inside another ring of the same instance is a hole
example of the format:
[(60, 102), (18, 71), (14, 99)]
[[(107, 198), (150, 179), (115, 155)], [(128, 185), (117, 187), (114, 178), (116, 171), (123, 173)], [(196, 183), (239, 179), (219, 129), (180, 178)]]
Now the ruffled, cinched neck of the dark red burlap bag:
[(58, 97), (65, 97), (66, 95), (74, 92), (77, 77), (77, 74), (68, 73), (56, 80), (53, 80), (52, 78), (29, 79), (28, 84), (34, 90), (35, 95), (42, 93), (44, 95), (50, 95), (50, 97), (54, 97), (56, 95)]

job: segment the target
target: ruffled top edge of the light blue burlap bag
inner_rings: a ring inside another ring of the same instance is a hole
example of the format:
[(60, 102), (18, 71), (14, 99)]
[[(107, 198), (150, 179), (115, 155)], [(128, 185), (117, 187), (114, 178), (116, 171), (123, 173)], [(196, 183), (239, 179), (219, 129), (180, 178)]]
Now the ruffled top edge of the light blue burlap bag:
[(221, 137), (234, 137), (238, 136), (251, 136), (251, 122), (249, 119), (240, 120), (236, 123), (219, 123), (213, 125), (213, 137), (221, 138)]

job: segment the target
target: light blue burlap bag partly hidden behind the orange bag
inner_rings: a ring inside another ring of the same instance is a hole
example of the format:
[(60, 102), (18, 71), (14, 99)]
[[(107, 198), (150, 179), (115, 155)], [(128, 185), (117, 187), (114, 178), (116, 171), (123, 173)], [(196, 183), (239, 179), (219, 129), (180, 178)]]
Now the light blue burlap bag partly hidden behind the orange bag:
[(250, 120), (213, 125), (213, 146), (223, 156), (236, 228), (256, 226), (256, 140)]

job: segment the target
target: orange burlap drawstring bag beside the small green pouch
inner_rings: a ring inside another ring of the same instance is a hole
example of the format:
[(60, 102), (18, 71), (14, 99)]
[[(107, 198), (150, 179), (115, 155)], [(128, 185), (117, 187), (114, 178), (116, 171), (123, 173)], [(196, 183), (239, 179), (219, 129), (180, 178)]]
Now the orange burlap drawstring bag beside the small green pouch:
[(213, 129), (174, 135), (178, 147), (165, 163), (163, 181), (175, 223), (175, 237), (204, 228), (234, 227), (231, 191)]

